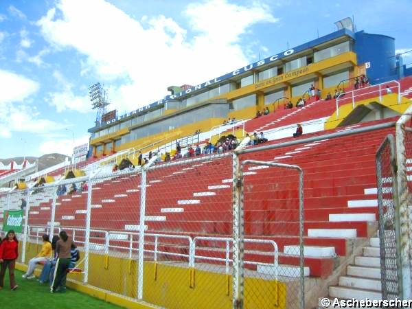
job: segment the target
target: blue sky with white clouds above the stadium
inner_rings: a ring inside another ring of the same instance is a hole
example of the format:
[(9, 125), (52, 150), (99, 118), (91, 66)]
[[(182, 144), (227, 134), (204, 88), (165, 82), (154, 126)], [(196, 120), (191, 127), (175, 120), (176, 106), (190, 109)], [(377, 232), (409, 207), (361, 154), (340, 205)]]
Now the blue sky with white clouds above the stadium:
[[(111, 108), (131, 111), (172, 84), (198, 84), (335, 30), (412, 49), (412, 1), (0, 1), (0, 158), (71, 154), (95, 112), (101, 82)], [(405, 57), (412, 62), (412, 53)]]

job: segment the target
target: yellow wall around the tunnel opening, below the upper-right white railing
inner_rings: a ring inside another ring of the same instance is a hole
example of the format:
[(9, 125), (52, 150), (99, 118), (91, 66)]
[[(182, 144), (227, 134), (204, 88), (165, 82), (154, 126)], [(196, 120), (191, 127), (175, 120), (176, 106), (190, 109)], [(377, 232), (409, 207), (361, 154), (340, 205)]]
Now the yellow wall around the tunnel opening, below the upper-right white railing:
[[(356, 106), (370, 104), (371, 102), (376, 102), (382, 104), (383, 106), (387, 106), (387, 108), (391, 108), (393, 111), (397, 111), (398, 113), (404, 113), (407, 110), (411, 101), (407, 98), (401, 97), (400, 104), (398, 104), (398, 94), (391, 93), (387, 95), (382, 95), (382, 102), (379, 102), (379, 97), (369, 98), (366, 100), (355, 102)], [(344, 104), (339, 107), (339, 115), (336, 116), (336, 111), (328, 118), (325, 122), (325, 130), (329, 130), (332, 128), (336, 128), (343, 122), (343, 120), (354, 110), (352, 103)]]

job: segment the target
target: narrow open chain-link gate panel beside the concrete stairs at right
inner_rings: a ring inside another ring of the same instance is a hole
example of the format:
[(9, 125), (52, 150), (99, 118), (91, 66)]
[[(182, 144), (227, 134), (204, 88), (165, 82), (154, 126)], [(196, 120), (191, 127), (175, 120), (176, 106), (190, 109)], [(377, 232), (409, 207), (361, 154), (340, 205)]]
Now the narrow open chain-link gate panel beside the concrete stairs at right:
[(382, 299), (402, 299), (396, 150), (388, 135), (376, 152)]

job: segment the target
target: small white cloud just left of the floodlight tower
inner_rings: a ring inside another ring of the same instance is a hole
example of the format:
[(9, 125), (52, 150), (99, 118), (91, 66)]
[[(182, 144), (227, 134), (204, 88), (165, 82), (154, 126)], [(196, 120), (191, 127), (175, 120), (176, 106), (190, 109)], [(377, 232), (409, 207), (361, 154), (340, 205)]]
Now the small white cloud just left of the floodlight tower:
[(50, 106), (55, 106), (58, 113), (67, 110), (78, 111), (80, 113), (88, 113), (91, 111), (87, 95), (75, 95), (72, 90), (73, 84), (67, 82), (59, 71), (54, 71), (53, 76), (63, 90), (60, 92), (49, 93), (47, 101)]

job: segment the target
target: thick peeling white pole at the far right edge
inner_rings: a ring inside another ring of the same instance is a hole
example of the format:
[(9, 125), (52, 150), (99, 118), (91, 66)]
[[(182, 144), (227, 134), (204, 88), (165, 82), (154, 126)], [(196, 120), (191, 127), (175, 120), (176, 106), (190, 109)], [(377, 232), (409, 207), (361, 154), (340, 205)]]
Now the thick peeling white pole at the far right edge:
[(407, 150), (405, 148), (404, 122), (411, 119), (408, 114), (412, 113), (409, 107), (404, 115), (396, 122), (396, 149), (398, 163), (398, 198), (399, 198), (399, 220), (400, 220), (400, 255), (402, 261), (402, 288), (404, 299), (411, 299), (411, 260), (409, 250), (411, 247), (409, 233), (409, 200), (407, 180)]

